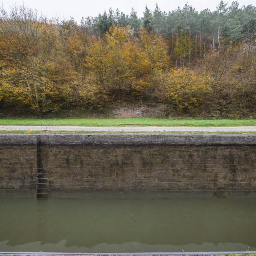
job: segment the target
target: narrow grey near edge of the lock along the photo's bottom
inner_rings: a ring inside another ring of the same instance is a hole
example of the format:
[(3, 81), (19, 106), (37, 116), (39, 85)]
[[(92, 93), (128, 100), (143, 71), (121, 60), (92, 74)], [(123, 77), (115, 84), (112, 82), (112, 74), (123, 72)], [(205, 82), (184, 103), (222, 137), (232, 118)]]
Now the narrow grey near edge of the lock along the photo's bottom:
[(256, 251), (228, 251), (228, 252), (97, 252), (97, 253), (86, 253), (86, 252), (0, 252), (0, 256), (15, 255), (15, 256), (171, 256), (171, 255), (248, 255), (256, 254)]

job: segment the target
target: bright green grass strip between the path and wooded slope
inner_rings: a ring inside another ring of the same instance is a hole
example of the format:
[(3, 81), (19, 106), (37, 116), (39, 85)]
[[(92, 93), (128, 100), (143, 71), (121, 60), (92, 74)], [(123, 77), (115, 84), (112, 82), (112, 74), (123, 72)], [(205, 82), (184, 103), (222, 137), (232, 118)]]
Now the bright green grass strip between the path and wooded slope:
[[(49, 119), (51, 121), (52, 119)], [(11, 119), (1, 118), (0, 126), (4, 125), (42, 125), (42, 119)], [(58, 119), (59, 126), (251, 126), (256, 119), (156, 119), (156, 118), (115, 118), (115, 119)]]

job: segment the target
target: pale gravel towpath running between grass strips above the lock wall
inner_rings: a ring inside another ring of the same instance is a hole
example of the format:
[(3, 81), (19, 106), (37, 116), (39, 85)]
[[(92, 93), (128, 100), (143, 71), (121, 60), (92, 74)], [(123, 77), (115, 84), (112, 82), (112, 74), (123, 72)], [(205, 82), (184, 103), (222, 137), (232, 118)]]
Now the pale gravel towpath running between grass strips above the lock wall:
[[(41, 131), (41, 126), (17, 126), (17, 125), (1, 125), (14, 130), (33, 130)], [(0, 130), (7, 131), (8, 129), (0, 127)], [(52, 129), (49, 129), (52, 130)], [(55, 127), (57, 130), (57, 126)], [(163, 126), (59, 126), (60, 131), (256, 131), (256, 126), (233, 126), (233, 127), (163, 127)]]

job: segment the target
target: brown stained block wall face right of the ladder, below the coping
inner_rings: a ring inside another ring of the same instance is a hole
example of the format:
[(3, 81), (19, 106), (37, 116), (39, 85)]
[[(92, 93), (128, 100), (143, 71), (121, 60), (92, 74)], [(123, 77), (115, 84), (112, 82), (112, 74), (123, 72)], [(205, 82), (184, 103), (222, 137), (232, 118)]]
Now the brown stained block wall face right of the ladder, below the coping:
[(256, 191), (256, 146), (51, 146), (50, 190)]

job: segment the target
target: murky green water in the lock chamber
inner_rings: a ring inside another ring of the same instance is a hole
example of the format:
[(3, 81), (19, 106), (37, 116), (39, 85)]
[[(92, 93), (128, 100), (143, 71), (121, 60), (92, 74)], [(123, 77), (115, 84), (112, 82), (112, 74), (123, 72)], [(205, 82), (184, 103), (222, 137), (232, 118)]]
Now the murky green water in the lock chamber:
[(256, 250), (255, 198), (0, 199), (0, 251)]

